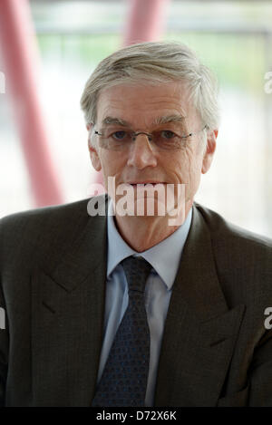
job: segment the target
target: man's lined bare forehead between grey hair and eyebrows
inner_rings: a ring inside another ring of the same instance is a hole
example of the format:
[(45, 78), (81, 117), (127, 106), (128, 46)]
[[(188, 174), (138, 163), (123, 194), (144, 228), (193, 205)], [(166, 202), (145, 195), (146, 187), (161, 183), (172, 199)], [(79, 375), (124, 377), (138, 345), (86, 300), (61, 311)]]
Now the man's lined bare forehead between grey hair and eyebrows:
[(119, 84), (103, 89), (97, 103), (98, 123), (109, 116), (140, 128), (169, 115), (196, 119), (185, 82)]

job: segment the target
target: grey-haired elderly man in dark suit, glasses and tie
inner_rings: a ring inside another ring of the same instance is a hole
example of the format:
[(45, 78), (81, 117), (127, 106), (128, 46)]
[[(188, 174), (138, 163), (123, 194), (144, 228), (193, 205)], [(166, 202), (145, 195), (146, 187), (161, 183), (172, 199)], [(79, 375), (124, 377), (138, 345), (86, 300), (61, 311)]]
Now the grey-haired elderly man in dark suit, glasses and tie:
[(107, 195), (2, 219), (2, 404), (272, 406), (271, 241), (194, 202), (211, 73), (184, 45), (135, 44), (81, 103)]

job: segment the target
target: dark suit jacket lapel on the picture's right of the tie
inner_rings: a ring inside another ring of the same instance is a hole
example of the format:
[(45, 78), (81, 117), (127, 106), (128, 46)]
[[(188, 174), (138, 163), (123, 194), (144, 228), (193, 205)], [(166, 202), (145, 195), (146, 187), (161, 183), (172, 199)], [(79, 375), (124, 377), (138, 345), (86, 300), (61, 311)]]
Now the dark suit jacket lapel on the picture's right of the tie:
[(161, 344), (155, 406), (215, 406), (244, 305), (228, 310), (207, 227), (193, 207)]

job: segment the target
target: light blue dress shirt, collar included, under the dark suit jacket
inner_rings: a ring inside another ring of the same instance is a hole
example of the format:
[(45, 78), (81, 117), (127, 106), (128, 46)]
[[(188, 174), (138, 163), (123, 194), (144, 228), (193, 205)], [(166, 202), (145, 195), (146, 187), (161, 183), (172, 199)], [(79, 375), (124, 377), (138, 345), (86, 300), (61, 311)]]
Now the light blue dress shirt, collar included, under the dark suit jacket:
[[(112, 200), (109, 212), (112, 213)], [(174, 233), (144, 252), (137, 253), (122, 239), (114, 218), (108, 215), (108, 264), (106, 304), (104, 317), (104, 339), (98, 372), (98, 382), (110, 353), (115, 333), (121, 323), (122, 316), (128, 306), (128, 284), (121, 261), (128, 256), (142, 256), (152, 266), (145, 289), (145, 306), (151, 332), (151, 358), (147, 383), (145, 406), (152, 406), (160, 358), (160, 345), (164, 323), (170, 303), (172, 285), (174, 283), (180, 257), (188, 237), (192, 210)]]

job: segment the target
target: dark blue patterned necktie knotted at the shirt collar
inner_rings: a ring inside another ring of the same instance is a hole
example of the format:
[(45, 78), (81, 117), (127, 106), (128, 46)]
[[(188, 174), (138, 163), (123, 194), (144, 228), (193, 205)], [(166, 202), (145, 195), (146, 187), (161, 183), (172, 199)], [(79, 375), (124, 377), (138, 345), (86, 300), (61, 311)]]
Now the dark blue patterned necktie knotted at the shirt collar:
[(150, 362), (150, 330), (144, 289), (151, 265), (129, 256), (121, 262), (129, 304), (112, 343), (92, 407), (144, 406)]

